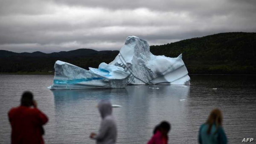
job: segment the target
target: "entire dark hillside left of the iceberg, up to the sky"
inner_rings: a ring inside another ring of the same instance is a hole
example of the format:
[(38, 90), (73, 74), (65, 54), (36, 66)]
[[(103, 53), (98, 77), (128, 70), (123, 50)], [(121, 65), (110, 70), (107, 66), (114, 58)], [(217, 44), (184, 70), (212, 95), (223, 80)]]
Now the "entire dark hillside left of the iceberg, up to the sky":
[(119, 51), (96, 51), (76, 49), (68, 52), (22, 52), (0, 50), (0, 72), (49, 72), (54, 71), (54, 63), (62, 60), (84, 69), (98, 68), (99, 63), (110, 63)]

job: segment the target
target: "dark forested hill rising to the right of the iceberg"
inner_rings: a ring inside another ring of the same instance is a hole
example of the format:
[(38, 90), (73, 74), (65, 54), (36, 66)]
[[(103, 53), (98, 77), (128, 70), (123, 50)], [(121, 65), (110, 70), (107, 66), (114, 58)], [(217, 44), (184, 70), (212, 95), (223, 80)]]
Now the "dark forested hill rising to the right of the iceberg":
[(154, 55), (182, 59), (189, 74), (256, 75), (256, 33), (230, 32), (150, 46)]

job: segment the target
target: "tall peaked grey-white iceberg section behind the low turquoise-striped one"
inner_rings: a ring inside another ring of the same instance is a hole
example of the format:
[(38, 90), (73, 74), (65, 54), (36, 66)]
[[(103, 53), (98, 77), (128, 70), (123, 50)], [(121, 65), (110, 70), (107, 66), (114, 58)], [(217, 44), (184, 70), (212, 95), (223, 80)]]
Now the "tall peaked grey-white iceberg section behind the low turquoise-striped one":
[(129, 84), (188, 84), (190, 78), (182, 60), (155, 56), (148, 42), (136, 36), (127, 37), (119, 55), (109, 63), (130, 73)]

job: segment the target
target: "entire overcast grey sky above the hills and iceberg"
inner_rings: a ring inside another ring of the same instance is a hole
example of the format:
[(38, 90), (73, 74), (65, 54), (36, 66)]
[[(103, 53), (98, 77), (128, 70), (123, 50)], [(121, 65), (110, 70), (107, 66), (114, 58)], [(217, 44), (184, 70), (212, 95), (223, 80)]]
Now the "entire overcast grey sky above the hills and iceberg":
[(256, 32), (256, 0), (0, 0), (0, 49), (119, 50), (128, 36), (161, 45)]

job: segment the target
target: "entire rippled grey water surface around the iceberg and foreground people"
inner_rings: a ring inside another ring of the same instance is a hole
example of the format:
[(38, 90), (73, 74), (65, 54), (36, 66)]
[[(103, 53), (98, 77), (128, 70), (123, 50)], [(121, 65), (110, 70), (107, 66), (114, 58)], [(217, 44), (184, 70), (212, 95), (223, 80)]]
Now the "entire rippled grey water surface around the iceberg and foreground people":
[(191, 75), (191, 85), (137, 85), (125, 89), (49, 90), (53, 75), (0, 75), (0, 144), (10, 143), (7, 112), (30, 90), (48, 117), (46, 144), (94, 144), (101, 121), (96, 105), (110, 99), (118, 144), (146, 144), (156, 124), (169, 121), (169, 144), (197, 144), (198, 130), (213, 108), (223, 112), (229, 144), (256, 141), (256, 76)]

